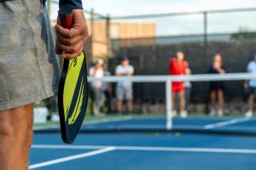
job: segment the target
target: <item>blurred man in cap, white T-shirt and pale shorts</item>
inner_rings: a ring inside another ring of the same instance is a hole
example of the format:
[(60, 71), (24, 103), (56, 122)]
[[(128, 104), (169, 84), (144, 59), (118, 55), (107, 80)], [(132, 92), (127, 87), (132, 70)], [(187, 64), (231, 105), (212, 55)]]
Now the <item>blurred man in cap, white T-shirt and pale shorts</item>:
[[(122, 59), (122, 64), (118, 65), (115, 69), (117, 77), (131, 77), (134, 74), (134, 68), (130, 65), (130, 60), (127, 57)], [(133, 110), (133, 94), (132, 82), (117, 82), (117, 110), (119, 113), (123, 111), (123, 100), (127, 100), (128, 112)]]

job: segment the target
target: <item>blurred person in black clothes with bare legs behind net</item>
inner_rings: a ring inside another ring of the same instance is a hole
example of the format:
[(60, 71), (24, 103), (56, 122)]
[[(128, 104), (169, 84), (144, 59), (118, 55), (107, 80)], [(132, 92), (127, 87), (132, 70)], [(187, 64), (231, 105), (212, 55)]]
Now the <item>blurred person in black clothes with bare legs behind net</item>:
[[(212, 66), (208, 70), (209, 74), (225, 74), (221, 54), (215, 54)], [(224, 114), (224, 82), (210, 82), (211, 108), (210, 116), (223, 116)], [(218, 101), (218, 106), (216, 102)]]

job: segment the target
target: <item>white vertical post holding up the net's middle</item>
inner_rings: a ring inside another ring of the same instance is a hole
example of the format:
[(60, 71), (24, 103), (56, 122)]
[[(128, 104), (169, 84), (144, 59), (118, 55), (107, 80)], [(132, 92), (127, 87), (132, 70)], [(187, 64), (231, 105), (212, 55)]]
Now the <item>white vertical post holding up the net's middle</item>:
[(166, 80), (166, 130), (172, 129), (172, 81)]

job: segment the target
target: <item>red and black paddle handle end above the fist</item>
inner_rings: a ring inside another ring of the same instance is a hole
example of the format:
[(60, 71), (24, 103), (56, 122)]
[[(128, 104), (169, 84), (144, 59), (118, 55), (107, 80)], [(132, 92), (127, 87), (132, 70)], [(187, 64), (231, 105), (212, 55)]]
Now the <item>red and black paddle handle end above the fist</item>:
[(73, 9), (61, 8), (59, 10), (59, 17), (61, 20), (61, 26), (63, 28), (70, 29), (73, 26)]

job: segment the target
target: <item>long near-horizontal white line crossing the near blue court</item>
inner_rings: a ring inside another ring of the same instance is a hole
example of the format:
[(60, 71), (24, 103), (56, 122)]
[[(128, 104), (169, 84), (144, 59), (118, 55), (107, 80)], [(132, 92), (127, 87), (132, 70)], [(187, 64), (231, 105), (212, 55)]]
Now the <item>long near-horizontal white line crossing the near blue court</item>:
[(115, 150), (140, 151), (177, 151), (177, 152), (207, 152), (207, 153), (233, 153), (256, 154), (256, 150), (222, 149), (222, 148), (182, 148), (182, 147), (144, 147), (144, 146), (106, 146), (106, 145), (58, 145), (33, 144), (33, 149), (61, 149), (61, 150), (99, 150), (113, 147)]

